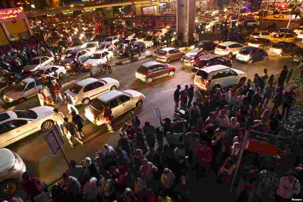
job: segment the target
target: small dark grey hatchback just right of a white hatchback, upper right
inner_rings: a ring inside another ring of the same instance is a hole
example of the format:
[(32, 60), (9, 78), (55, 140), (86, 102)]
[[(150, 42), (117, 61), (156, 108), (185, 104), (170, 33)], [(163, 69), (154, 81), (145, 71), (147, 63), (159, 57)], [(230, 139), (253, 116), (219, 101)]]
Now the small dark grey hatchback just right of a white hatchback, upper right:
[(237, 60), (247, 62), (248, 64), (251, 64), (253, 61), (266, 60), (267, 58), (268, 53), (256, 47), (242, 48), (236, 55)]

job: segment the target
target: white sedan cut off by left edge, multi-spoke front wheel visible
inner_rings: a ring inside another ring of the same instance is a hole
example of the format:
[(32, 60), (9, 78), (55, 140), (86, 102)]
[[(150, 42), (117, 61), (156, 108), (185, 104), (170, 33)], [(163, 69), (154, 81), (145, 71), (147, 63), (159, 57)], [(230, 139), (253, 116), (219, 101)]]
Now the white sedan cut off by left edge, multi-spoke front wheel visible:
[(0, 148), (6, 147), (37, 131), (48, 131), (54, 125), (54, 108), (5, 111), (0, 114)]

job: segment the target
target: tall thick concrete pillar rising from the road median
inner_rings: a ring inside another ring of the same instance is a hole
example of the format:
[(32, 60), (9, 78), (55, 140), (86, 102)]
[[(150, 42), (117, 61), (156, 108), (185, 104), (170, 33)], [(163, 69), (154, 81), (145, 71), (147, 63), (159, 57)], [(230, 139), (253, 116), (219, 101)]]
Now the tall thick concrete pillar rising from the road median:
[[(189, 42), (193, 41), (195, 32), (196, 0), (178, 0), (177, 1), (177, 32), (185, 38), (188, 34)], [(184, 42), (184, 40), (183, 40)]]

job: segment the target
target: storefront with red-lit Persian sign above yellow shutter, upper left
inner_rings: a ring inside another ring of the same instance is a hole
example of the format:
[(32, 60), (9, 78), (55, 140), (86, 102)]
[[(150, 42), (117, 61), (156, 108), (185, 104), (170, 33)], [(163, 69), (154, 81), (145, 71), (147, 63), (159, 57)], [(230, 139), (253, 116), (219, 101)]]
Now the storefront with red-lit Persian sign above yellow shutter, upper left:
[(22, 7), (0, 9), (0, 46), (33, 35)]

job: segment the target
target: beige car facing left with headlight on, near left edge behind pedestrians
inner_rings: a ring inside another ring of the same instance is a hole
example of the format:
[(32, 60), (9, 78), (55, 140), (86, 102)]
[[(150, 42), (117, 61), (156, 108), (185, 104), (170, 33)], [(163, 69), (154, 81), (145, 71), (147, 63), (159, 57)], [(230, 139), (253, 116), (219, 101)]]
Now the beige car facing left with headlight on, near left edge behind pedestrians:
[(42, 89), (41, 79), (26, 78), (20, 81), (14, 89), (3, 95), (3, 99), (7, 103), (17, 101), (22, 103), (25, 100), (32, 98), (38, 94), (39, 89)]

